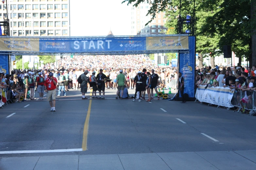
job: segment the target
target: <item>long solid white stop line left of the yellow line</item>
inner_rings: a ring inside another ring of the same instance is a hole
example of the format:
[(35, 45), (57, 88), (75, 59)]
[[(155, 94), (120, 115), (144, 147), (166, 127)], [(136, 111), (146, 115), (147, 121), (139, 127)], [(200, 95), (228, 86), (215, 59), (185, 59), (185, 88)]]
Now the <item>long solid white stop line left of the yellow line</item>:
[(0, 151), (0, 154), (13, 154), (13, 153), (49, 153), (49, 152), (77, 152), (83, 149), (55, 149), (55, 150), (13, 150), (13, 151)]

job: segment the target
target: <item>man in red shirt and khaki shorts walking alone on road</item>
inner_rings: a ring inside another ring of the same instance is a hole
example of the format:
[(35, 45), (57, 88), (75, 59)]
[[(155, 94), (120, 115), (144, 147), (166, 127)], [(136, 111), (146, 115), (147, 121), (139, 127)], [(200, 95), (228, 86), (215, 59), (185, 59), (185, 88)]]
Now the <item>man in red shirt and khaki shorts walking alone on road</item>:
[(44, 89), (45, 92), (47, 92), (47, 101), (49, 101), (49, 104), (51, 106), (50, 111), (56, 111), (55, 110), (55, 99), (56, 99), (56, 85), (58, 83), (57, 78), (53, 77), (53, 73), (49, 73), (49, 77), (46, 78), (44, 81)]

